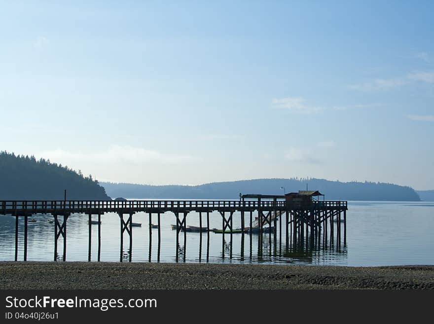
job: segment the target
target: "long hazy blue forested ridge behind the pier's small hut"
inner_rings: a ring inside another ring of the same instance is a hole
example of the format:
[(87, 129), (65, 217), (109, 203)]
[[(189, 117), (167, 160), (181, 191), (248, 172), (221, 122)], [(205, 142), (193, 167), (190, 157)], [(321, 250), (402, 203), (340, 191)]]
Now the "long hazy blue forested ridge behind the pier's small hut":
[(411, 187), (380, 182), (340, 182), (324, 179), (255, 179), (214, 182), (195, 186), (148, 185), (101, 182), (111, 197), (166, 199), (238, 199), (239, 193), (283, 195), (305, 190), (319, 190), (326, 200), (420, 201)]

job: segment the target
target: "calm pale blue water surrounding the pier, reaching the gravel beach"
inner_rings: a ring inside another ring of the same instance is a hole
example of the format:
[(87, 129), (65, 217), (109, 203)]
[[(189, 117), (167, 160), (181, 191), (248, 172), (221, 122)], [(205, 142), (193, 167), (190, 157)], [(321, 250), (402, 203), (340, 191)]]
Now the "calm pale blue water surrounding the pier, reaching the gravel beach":
[[(253, 214), (254, 215), (254, 214)], [(96, 219), (96, 216), (93, 216)], [(125, 216), (126, 217), (126, 216)], [(241, 214), (235, 213), (233, 226), (241, 226)], [(51, 215), (35, 216), (36, 222), (28, 225), (29, 261), (51, 261), (54, 259), (54, 224), (48, 222)], [(60, 217), (61, 218), (61, 217)], [(67, 227), (67, 261), (88, 260), (88, 223), (85, 215), (72, 215)], [(101, 216), (101, 261), (120, 260), (120, 221), (117, 214)], [(206, 215), (202, 216), (206, 226)], [(246, 213), (246, 226), (249, 215)], [(432, 202), (349, 202), (347, 212), (347, 245), (340, 248), (328, 247), (309, 252), (289, 253), (285, 245), (285, 225), (282, 224), (282, 242), (269, 245), (268, 234), (263, 235), (262, 251), (258, 250), (259, 236), (210, 233), (209, 244), (206, 233), (180, 233), (180, 247), (176, 246), (176, 224), (173, 213), (161, 215), (161, 242), (158, 254), (157, 229), (152, 229), (149, 240), (148, 215), (138, 213), (134, 222), (142, 227), (133, 227), (132, 261), (157, 262), (213, 262), (213, 263), (288, 263), (316, 265), (376, 266), (402, 264), (434, 264), (434, 203)], [(157, 216), (152, 215), (157, 223)], [(190, 213), (187, 225), (199, 225), (199, 214)], [(20, 218), (19, 255), (24, 254), (24, 218)], [(278, 225), (279, 227), (279, 225)], [(0, 216), (0, 260), (13, 260), (15, 256), (15, 218)], [(210, 214), (210, 228), (221, 228), (221, 216)], [(342, 236), (343, 237), (343, 236)], [(252, 240), (251, 240), (252, 239)], [(244, 242), (243, 242), (244, 241)], [(252, 243), (251, 243), (252, 242)], [(151, 245), (149, 244), (151, 243)], [(123, 260), (128, 261), (129, 239), (124, 233)], [(207, 249), (208, 252), (207, 252)], [(178, 250), (178, 253), (177, 253)], [(63, 240), (58, 241), (60, 259)], [(98, 225), (92, 225), (92, 261), (97, 261)], [(177, 259), (178, 254), (178, 259)], [(207, 257), (208, 256), (208, 257)]]

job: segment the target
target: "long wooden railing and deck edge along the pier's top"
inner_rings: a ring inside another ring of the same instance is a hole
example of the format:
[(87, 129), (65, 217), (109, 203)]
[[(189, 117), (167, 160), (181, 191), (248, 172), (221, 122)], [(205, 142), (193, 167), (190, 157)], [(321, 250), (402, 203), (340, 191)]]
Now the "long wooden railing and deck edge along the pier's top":
[(313, 202), (286, 202), (285, 200), (35, 200), (0, 201), (0, 214), (32, 213), (86, 213), (89, 210), (102, 212), (116, 212), (122, 210), (286, 210), (286, 209), (347, 209), (346, 201), (313, 201)]

